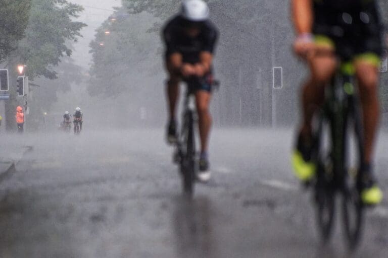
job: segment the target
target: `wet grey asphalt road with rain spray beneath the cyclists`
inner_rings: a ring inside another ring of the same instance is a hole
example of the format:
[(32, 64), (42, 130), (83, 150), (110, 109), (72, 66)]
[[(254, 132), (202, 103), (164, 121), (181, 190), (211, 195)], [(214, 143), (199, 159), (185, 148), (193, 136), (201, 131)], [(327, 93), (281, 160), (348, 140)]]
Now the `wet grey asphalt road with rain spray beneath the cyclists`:
[(320, 245), (311, 196), (290, 171), (289, 130), (215, 130), (213, 179), (192, 201), (162, 131), (82, 133), (25, 137), (33, 151), (0, 182), (0, 257), (388, 256), (385, 134), (376, 168), (387, 198), (351, 255), (339, 216)]

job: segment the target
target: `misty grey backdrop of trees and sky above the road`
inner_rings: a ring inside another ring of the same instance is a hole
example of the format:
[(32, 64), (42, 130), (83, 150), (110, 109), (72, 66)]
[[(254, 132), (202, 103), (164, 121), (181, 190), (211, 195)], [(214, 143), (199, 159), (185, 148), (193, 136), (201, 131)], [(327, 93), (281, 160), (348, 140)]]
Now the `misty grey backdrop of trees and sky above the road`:
[[(32, 0), (32, 7), (47, 6), (50, 1)], [(71, 2), (83, 10), (74, 12), (78, 17), (72, 16), (70, 20), (83, 24), (69, 23), (69, 26), (80, 28), (74, 29), (72, 37), (62, 35), (61, 40), (70, 52), (59, 49), (62, 51), (59, 57), (41, 57), (47, 49), (57, 46), (58, 42), (54, 40), (53, 46), (38, 47), (37, 60), (33, 60), (28, 53), (35, 51), (36, 42), (28, 42), (30, 36), (46, 30), (41, 23), (35, 24), (36, 17), (40, 17), (35, 14), (35, 18), (30, 16), (25, 39), (19, 43), (21, 50), (16, 51), (8, 64), (11, 67), (19, 60), (30, 62), (27, 74), (30, 73), (30, 80), (38, 85), (31, 87), (28, 96), (29, 130), (57, 127), (62, 114), (66, 110), (73, 112), (77, 106), (84, 112), (85, 128), (164, 126), (166, 75), (160, 29), (179, 10), (180, 1)], [(208, 2), (211, 18), (220, 30), (215, 75), (221, 81), (221, 88), (214, 93), (211, 105), (215, 125), (293, 126), (299, 119), (298, 95), (306, 69), (290, 51), (294, 32), (289, 1)], [(380, 4), (382, 17), (386, 19), (388, 5), (383, 1)], [(55, 17), (51, 19), (55, 22)], [(106, 31), (110, 34), (105, 34)], [(45, 44), (44, 37), (49, 36), (50, 33), (42, 33), (39, 44)], [(29, 43), (28, 47), (24, 41)], [(273, 67), (282, 68), (281, 89), (272, 87)], [(388, 76), (387, 73), (381, 76), (382, 124), (386, 127)], [(14, 109), (22, 102), (11, 94), (11, 101), (7, 102), (8, 130), (15, 130)]]

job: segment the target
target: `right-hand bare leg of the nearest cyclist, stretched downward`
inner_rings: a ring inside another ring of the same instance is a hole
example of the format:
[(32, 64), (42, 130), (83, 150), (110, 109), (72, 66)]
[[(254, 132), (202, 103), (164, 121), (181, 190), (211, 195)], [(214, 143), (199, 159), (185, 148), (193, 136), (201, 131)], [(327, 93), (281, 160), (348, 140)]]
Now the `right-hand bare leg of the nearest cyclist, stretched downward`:
[(364, 119), (364, 162), (370, 164), (379, 118), (378, 71), (372, 64), (361, 60), (355, 66)]

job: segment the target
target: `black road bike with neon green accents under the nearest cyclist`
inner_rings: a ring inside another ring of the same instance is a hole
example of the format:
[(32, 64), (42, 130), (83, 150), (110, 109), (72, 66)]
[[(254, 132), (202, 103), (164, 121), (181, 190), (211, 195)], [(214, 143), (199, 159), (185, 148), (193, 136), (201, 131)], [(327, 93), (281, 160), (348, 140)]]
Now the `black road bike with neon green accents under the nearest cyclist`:
[[(330, 239), (335, 208), (342, 207), (345, 236), (353, 249), (360, 240), (364, 220), (357, 184), (364, 145), (358, 88), (354, 73), (346, 71), (349, 66), (342, 64), (325, 88), (325, 104), (314, 122), (312, 157), (317, 169), (314, 201), (323, 242)], [(339, 196), (341, 206), (336, 206)]]

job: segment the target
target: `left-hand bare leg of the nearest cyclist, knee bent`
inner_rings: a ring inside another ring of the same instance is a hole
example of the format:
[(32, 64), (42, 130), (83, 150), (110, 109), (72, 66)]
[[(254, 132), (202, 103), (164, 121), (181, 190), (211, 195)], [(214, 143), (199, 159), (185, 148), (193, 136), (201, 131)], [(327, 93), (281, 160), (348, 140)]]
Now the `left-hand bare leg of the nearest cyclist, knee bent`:
[(336, 59), (331, 56), (316, 56), (309, 59), (310, 79), (302, 89), (303, 125), (302, 136), (310, 137), (315, 111), (324, 102), (324, 87), (332, 78)]

